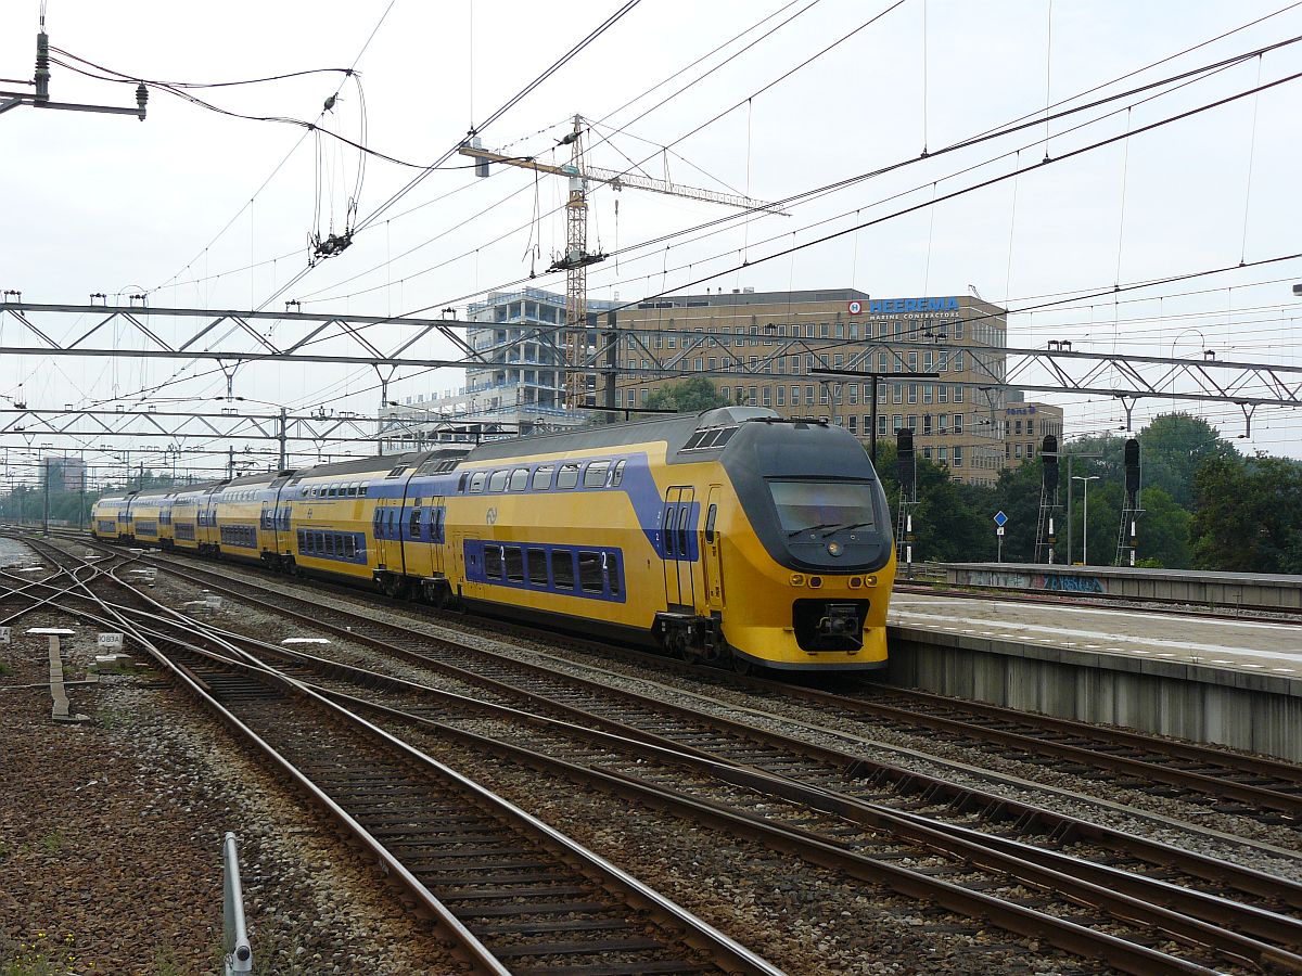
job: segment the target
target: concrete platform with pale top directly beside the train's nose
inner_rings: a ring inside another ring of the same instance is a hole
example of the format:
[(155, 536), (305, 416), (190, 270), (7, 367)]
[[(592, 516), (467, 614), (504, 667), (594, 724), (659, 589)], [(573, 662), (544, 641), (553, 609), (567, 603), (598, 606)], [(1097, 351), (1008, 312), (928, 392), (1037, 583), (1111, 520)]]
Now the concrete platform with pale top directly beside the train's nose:
[(1302, 625), (900, 593), (891, 683), (1302, 761)]

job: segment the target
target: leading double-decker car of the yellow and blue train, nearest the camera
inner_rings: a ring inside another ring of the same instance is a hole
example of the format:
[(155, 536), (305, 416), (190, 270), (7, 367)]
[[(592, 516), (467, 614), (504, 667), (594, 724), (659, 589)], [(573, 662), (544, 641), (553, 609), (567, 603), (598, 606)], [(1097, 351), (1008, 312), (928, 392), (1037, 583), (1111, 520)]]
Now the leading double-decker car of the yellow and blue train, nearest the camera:
[[(406, 554), (380, 579), (742, 670), (885, 664), (889, 511), (838, 427), (725, 407), (495, 442), (434, 468), (391, 502)], [(441, 573), (410, 573), (430, 547)]]

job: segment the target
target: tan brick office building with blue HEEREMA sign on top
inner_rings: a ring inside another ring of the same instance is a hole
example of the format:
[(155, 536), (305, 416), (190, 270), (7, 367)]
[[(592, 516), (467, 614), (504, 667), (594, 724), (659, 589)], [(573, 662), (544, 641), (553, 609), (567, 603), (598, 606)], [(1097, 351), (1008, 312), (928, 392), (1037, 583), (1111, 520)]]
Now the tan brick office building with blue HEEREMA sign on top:
[(999, 351), (1006, 314), (980, 298), (707, 291), (622, 308), (617, 328), (618, 407), (637, 407), (671, 381), (658, 370), (700, 372), (733, 402), (825, 419), (865, 441), (874, 429), (891, 437), (911, 428), (919, 453), (962, 481), (993, 484), (1010, 454)]

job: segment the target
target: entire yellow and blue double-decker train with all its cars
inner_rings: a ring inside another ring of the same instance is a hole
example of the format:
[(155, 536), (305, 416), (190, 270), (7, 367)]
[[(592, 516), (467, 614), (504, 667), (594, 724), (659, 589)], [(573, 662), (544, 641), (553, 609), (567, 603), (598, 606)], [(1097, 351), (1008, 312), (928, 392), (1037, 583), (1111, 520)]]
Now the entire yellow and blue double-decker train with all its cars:
[(91, 531), (738, 670), (887, 660), (872, 465), (756, 407), (107, 496)]

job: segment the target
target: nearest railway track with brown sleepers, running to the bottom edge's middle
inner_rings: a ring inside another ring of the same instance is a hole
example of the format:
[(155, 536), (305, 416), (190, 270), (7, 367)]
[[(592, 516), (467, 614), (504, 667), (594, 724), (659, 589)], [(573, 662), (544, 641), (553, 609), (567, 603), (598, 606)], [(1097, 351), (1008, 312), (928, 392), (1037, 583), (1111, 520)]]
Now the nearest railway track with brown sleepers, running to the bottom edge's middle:
[[(49, 603), (132, 634), (379, 858), (477, 972), (780, 972), (473, 779), (117, 583), (134, 606), (76, 583)], [(77, 591), (96, 609), (69, 605)]]

